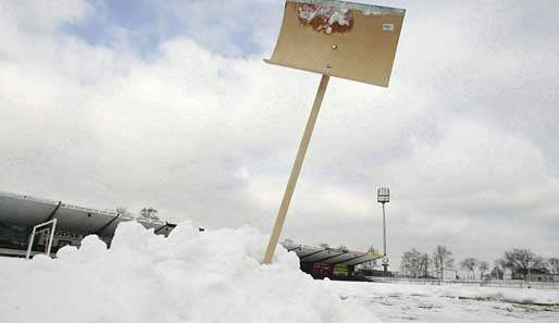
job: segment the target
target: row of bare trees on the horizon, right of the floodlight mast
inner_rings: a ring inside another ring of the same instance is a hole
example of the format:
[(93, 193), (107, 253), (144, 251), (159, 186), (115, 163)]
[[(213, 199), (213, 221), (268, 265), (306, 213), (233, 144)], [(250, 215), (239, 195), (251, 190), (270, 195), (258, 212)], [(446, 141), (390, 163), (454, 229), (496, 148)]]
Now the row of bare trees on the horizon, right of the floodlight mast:
[[(445, 271), (451, 271), (456, 278), (460, 278), (458, 269), (468, 273), (465, 278), (475, 278), (477, 270), (481, 279), (486, 277), (490, 270), (489, 263), (474, 257), (467, 257), (457, 262), (452, 252), (445, 246), (437, 246), (431, 254), (413, 248), (402, 254), (400, 262), (401, 274), (414, 278), (444, 278)], [(559, 258), (545, 259), (530, 249), (514, 248), (505, 251), (501, 258), (493, 262), (490, 273), (495, 278), (502, 279), (506, 270), (523, 278), (526, 278), (531, 270), (559, 274)]]

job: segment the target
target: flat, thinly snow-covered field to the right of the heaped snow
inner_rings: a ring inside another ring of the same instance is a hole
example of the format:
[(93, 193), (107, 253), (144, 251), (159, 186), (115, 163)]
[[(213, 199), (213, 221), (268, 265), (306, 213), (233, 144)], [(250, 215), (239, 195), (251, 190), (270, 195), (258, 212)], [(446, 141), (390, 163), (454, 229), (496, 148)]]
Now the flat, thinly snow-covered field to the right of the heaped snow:
[(559, 290), (324, 282), (383, 322), (559, 322)]

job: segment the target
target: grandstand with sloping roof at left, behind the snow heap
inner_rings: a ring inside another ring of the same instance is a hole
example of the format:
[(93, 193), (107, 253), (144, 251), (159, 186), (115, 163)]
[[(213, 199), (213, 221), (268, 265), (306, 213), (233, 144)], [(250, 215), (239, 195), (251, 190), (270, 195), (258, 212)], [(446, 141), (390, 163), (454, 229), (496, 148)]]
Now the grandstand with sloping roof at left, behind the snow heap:
[[(14, 192), (0, 192), (0, 256), (54, 256), (63, 246), (79, 246), (87, 235), (98, 235), (110, 246), (121, 222), (137, 221), (159, 235), (175, 224), (131, 214), (83, 208)], [(29, 244), (30, 243), (30, 244)]]

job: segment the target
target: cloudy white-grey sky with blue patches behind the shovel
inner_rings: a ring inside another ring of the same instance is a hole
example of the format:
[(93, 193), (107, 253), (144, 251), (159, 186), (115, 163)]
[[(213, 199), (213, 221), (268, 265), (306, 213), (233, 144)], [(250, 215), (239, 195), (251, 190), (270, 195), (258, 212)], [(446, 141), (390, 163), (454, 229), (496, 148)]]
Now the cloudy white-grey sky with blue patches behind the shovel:
[[(367, 1), (368, 3), (372, 3)], [(283, 238), (559, 256), (559, 2), (407, 10), (389, 88), (330, 83)], [(0, 1), (0, 190), (270, 232), (320, 75), (283, 1)]]

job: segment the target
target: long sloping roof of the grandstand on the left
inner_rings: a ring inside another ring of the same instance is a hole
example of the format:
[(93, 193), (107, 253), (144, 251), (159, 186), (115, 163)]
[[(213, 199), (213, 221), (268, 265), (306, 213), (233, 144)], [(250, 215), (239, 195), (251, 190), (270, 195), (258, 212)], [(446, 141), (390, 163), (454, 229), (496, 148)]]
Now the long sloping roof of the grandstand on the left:
[(137, 220), (145, 227), (153, 228), (156, 233), (165, 235), (175, 227), (174, 224), (166, 222), (135, 219), (128, 214), (0, 191), (1, 224), (35, 226), (52, 219), (58, 221), (57, 229), (82, 235), (96, 234), (104, 237), (113, 236), (116, 225), (123, 221)]

